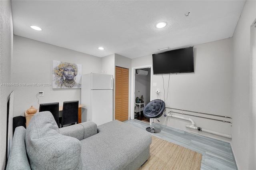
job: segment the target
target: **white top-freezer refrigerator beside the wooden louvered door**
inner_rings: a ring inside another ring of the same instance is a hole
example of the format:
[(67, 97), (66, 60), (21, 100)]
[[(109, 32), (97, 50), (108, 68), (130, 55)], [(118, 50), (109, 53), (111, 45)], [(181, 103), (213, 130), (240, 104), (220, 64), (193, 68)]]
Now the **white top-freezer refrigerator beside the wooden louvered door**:
[(112, 75), (90, 73), (82, 75), (81, 104), (85, 110), (81, 121), (92, 121), (97, 125), (113, 120)]

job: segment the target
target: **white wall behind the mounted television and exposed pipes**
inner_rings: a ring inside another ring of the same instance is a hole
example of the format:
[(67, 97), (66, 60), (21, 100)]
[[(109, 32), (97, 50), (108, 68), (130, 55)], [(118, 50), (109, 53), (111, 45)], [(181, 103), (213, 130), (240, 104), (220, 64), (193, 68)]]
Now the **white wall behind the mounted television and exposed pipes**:
[[(152, 99), (158, 98), (155, 91), (156, 89), (160, 89), (159, 98), (165, 101), (166, 107), (231, 116), (232, 38), (195, 45), (194, 57), (195, 72), (171, 74), (169, 88), (169, 74), (164, 74), (163, 77), (162, 75), (154, 75), (152, 83), (157, 83), (157, 86), (152, 87)], [(152, 55), (132, 59), (132, 67), (137, 67), (138, 63), (143, 63), (143, 65), (152, 64)], [(166, 111), (166, 113), (168, 113), (170, 109)], [(182, 116), (180, 114), (176, 115)], [(192, 116), (184, 117), (193, 119), (198, 127), (224, 134), (231, 134), (230, 123)], [(223, 118), (219, 117), (213, 118), (223, 120)], [(232, 121), (230, 119), (226, 120)], [(162, 116), (160, 123), (205, 136), (230, 141), (220, 136), (187, 129), (185, 127), (185, 124), (189, 124), (187, 121)]]

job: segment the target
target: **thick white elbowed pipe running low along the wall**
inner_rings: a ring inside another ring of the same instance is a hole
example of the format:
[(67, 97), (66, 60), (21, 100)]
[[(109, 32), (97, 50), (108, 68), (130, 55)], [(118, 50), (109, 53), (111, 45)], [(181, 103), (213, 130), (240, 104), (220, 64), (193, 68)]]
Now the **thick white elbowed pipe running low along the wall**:
[(168, 114), (168, 115), (164, 115), (164, 116), (165, 117), (166, 116), (175, 117), (175, 118), (178, 118), (178, 119), (183, 119), (183, 120), (186, 120), (186, 121), (190, 121), (191, 125), (185, 125), (187, 128), (192, 128), (192, 129), (199, 130), (199, 131), (202, 131), (202, 132), (208, 132), (208, 133), (211, 133), (211, 134), (215, 134), (215, 135), (218, 135), (218, 136), (222, 136), (222, 137), (225, 137), (225, 138), (232, 139), (232, 136), (229, 135), (229, 134), (223, 134), (223, 133), (219, 133), (219, 132), (214, 132), (212, 130), (207, 130), (207, 129), (204, 129), (204, 128), (196, 127), (194, 121), (190, 118), (180, 117), (180, 116), (176, 116), (176, 115), (172, 115), (172, 114)]

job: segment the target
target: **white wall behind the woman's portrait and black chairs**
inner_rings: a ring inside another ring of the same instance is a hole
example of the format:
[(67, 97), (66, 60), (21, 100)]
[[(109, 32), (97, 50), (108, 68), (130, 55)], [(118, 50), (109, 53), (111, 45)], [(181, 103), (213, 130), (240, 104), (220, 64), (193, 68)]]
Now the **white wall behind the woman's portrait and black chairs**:
[[(82, 74), (101, 73), (101, 58), (70, 49), (14, 36), (13, 42), (13, 82), (14, 83), (52, 83), (52, 61), (64, 61), (82, 65)], [(14, 116), (24, 115), (31, 105), (36, 109), (36, 94), (39, 103), (81, 100), (81, 89), (52, 89), (50, 87), (15, 87)]]

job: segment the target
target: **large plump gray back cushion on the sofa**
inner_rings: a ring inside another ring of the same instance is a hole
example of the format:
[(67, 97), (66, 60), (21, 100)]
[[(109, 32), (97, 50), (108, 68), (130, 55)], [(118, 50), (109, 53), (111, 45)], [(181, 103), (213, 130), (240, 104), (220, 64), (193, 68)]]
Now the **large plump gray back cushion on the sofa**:
[(26, 151), (31, 169), (82, 169), (81, 143), (60, 134), (52, 113), (36, 113), (26, 130)]

